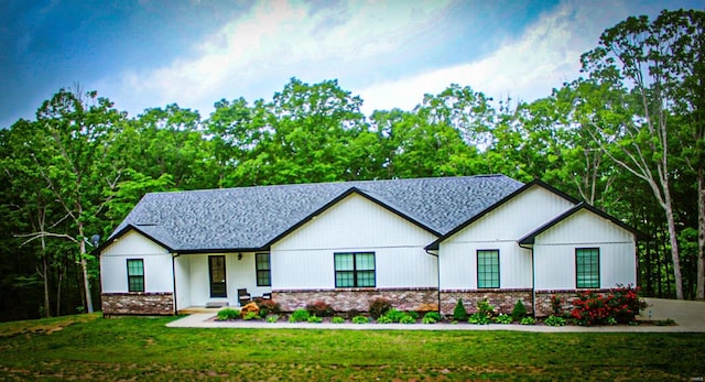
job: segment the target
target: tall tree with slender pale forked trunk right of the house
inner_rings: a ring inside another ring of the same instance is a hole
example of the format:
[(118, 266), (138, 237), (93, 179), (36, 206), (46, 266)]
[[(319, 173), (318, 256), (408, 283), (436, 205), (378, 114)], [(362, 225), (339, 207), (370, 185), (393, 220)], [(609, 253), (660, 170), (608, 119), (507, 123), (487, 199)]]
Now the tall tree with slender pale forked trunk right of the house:
[[(605, 152), (619, 166), (649, 184), (663, 209), (679, 299), (683, 298), (683, 281), (671, 192), (674, 172), (669, 134), (673, 114), (682, 105), (677, 96), (690, 94), (684, 89), (694, 90), (694, 97), (686, 101), (694, 106), (698, 105), (697, 97), (702, 94), (702, 11), (663, 11), (653, 22), (646, 15), (630, 17), (605, 31), (598, 47), (582, 56), (584, 70), (600, 81), (627, 86), (633, 98), (626, 102), (634, 110), (639, 108), (637, 117), (617, 123), (610, 123), (615, 121), (609, 118), (595, 120), (590, 131), (600, 145), (609, 143), (617, 148), (623, 159), (617, 157), (614, 151)], [(698, 84), (699, 91), (695, 90)], [(608, 112), (603, 117), (609, 117)]]

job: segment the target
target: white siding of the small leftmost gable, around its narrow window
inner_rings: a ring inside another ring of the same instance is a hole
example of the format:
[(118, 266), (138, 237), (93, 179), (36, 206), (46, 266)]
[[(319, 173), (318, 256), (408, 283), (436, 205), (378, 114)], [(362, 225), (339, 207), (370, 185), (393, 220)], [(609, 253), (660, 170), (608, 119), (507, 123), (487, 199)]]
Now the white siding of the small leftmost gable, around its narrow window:
[(128, 293), (128, 259), (144, 263), (144, 292), (174, 292), (169, 251), (135, 231), (123, 234), (100, 253), (104, 293)]

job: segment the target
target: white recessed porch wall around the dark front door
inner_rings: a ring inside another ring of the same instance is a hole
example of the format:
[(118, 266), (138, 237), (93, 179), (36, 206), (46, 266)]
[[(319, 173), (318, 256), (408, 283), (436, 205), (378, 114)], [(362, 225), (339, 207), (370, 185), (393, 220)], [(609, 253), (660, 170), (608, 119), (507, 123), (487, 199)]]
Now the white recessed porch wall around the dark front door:
[[(210, 297), (210, 280), (208, 270), (209, 255), (225, 255), (226, 270), (226, 297)], [(242, 259), (238, 260), (238, 253), (209, 253), (209, 254), (182, 254), (178, 258), (184, 264), (184, 271), (188, 279), (188, 303), (183, 305), (182, 291), (177, 284), (180, 308), (187, 306), (205, 306), (208, 302), (227, 302), (231, 306), (238, 305), (238, 290), (247, 288), (252, 297), (271, 292), (269, 286), (257, 286), (257, 272), (254, 266), (254, 253), (242, 252)], [(271, 265), (270, 265), (271, 266)], [(178, 274), (178, 273), (177, 273)], [(185, 283), (186, 284), (186, 283)]]

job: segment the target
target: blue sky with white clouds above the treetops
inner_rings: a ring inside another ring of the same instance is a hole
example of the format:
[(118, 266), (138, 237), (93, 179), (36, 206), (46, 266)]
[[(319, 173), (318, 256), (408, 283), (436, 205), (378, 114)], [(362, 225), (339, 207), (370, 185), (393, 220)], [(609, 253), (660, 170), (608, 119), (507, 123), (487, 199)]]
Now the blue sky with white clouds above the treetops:
[[(9, 3), (8, 3), (9, 1)], [(34, 119), (62, 87), (130, 116), (176, 102), (271, 99), (291, 77), (338, 79), (364, 111), (412, 109), (469, 85), (533, 100), (579, 76), (578, 57), (629, 15), (699, 1), (6, 0), (0, 127)]]

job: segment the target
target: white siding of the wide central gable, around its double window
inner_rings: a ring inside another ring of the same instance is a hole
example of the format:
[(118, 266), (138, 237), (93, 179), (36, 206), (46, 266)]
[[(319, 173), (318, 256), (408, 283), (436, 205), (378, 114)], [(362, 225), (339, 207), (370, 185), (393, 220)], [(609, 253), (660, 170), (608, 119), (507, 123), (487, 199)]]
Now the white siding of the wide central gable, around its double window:
[(273, 290), (335, 288), (334, 254), (375, 252), (376, 286), (436, 287), (436, 237), (352, 194), (271, 247)]

